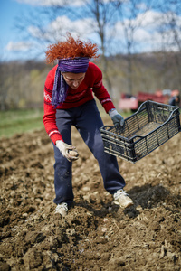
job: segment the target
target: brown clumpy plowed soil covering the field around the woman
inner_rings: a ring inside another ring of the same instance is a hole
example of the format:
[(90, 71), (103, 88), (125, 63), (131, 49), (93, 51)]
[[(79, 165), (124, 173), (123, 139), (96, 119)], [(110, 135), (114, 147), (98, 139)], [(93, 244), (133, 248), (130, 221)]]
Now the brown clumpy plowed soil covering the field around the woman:
[(44, 129), (0, 145), (0, 270), (181, 270), (181, 134), (137, 164), (118, 158), (134, 201), (112, 205), (75, 129), (75, 202), (54, 214), (52, 143)]

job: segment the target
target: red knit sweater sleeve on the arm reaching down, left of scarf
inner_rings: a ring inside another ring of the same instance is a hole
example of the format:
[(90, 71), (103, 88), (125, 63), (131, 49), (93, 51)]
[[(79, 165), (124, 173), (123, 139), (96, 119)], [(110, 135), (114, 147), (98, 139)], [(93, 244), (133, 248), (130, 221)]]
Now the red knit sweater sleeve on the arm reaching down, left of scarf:
[(52, 106), (52, 88), (54, 82), (54, 75), (57, 66), (55, 66), (47, 75), (45, 85), (44, 85), (44, 115), (43, 123), (47, 134), (52, 139), (55, 144), (57, 140), (62, 140), (62, 135), (60, 134), (58, 127), (56, 126), (56, 109)]

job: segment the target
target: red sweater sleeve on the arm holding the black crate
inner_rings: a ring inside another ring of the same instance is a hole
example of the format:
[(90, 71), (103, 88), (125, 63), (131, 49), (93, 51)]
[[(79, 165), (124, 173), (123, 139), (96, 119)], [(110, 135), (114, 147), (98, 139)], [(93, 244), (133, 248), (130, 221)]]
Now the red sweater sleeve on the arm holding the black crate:
[(92, 64), (92, 69), (94, 73), (94, 76), (93, 76), (94, 83), (93, 83), (92, 90), (95, 96), (100, 100), (100, 103), (102, 107), (104, 107), (106, 113), (108, 113), (110, 109), (115, 108), (115, 107), (111, 101), (108, 90), (102, 84), (102, 72), (100, 68), (93, 63), (91, 64)]

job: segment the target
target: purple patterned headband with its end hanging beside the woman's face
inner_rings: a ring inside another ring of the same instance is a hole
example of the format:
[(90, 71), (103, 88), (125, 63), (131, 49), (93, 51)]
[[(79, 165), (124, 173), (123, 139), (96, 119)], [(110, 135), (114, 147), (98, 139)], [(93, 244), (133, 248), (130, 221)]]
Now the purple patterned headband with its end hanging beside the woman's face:
[(55, 73), (52, 89), (52, 106), (62, 104), (67, 97), (68, 85), (65, 82), (62, 72), (81, 73), (86, 72), (89, 66), (89, 58), (61, 59)]

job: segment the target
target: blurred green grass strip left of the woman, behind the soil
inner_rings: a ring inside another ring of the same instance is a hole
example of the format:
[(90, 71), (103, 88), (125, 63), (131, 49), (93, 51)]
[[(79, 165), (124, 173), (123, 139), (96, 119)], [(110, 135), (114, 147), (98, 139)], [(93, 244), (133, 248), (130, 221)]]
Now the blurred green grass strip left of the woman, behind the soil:
[(0, 137), (43, 128), (43, 109), (0, 111)]

